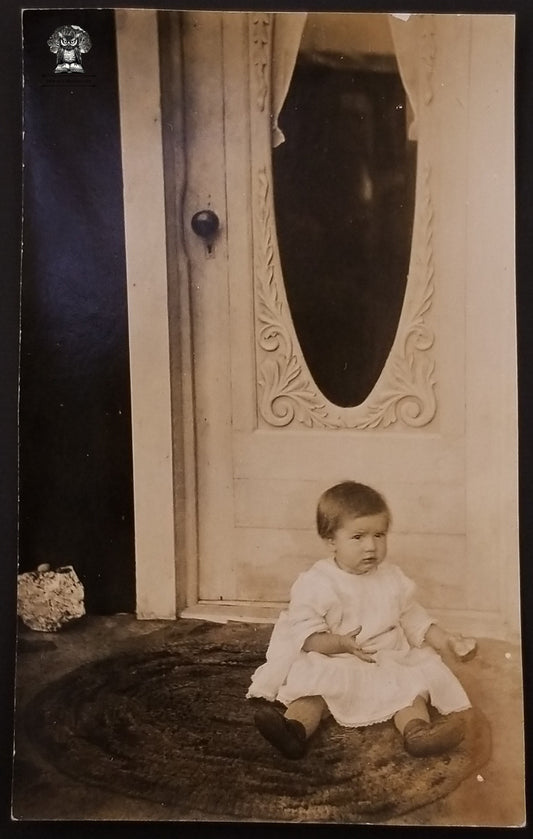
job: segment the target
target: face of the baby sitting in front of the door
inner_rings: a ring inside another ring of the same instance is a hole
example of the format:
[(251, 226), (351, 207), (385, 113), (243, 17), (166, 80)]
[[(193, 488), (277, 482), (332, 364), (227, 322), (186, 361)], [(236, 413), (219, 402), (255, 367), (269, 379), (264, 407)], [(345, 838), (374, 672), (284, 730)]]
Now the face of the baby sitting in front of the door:
[(387, 529), (386, 513), (344, 519), (334, 536), (327, 540), (339, 568), (349, 574), (375, 571), (387, 553)]

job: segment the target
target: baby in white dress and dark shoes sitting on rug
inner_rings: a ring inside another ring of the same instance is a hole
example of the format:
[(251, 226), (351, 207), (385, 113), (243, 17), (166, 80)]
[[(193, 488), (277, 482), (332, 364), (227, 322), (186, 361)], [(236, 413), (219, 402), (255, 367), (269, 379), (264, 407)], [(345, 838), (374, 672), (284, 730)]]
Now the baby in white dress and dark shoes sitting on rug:
[[(328, 489), (317, 509), (327, 559), (300, 574), (290, 604), (274, 626), (266, 662), (248, 698), (277, 700), (255, 724), (285, 757), (300, 758), (323, 717), (359, 727), (392, 718), (405, 749), (436, 755), (457, 746), (470, 707), (439, 652), (465, 660), (473, 639), (450, 635), (414, 598), (414, 583), (387, 562), (391, 515), (385, 499), (364, 484)], [(428, 706), (443, 715), (430, 719)]]

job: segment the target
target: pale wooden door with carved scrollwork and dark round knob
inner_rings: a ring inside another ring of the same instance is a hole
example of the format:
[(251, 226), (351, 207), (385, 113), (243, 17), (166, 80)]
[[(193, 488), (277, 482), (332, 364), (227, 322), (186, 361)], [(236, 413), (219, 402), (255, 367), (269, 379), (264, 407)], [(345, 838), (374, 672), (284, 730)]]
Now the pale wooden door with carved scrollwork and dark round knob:
[[(514, 461), (502, 458), (514, 451), (512, 25), (415, 22), (405, 298), (375, 386), (352, 407), (320, 392), (287, 302), (269, 119), (274, 25), (262, 13), (182, 16), (197, 501), (189, 605), (271, 615), (324, 555), (319, 494), (353, 478), (387, 497), (390, 555), (426, 604), (455, 625), (498, 631), (517, 575), (516, 541), (505, 547), (502, 535), (516, 511)], [(489, 207), (494, 179), (499, 205)], [(202, 210), (220, 222), (212, 243), (190, 225)]]

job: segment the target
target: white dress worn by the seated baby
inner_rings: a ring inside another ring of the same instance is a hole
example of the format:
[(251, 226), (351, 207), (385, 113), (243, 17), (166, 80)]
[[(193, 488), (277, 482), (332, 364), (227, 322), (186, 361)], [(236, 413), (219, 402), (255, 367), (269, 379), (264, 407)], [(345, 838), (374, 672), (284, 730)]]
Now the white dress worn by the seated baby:
[[(419, 694), (441, 714), (469, 708), (458, 679), (435, 650), (423, 646), (433, 621), (414, 591), (414, 583), (389, 562), (368, 574), (349, 574), (333, 558), (319, 560), (292, 586), (247, 697), (288, 705), (301, 696), (322, 696), (336, 721), (349, 727), (387, 720)], [(358, 626), (358, 643), (377, 650), (375, 663), (351, 653), (302, 650), (314, 632), (344, 635)]]

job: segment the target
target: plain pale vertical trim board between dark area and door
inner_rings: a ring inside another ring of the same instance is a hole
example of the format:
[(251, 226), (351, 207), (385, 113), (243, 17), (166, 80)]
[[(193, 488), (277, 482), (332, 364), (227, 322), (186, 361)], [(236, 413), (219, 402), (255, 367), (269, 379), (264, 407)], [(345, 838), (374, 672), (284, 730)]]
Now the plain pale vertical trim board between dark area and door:
[(177, 615), (177, 563), (157, 12), (117, 9), (115, 26), (130, 344), (136, 614), (144, 619), (172, 619)]

